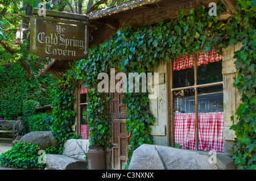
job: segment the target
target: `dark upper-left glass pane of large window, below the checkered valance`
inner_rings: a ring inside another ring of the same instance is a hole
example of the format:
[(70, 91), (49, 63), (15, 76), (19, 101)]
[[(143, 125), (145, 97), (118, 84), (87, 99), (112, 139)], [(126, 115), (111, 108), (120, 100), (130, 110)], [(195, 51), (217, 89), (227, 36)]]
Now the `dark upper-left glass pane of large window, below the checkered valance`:
[(194, 68), (175, 70), (173, 87), (188, 87), (195, 85)]

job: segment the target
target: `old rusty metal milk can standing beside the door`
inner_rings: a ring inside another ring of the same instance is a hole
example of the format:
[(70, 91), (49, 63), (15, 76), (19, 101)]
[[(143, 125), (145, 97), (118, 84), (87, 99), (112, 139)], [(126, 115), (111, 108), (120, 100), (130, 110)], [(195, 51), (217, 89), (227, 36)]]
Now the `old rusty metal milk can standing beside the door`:
[(105, 151), (100, 144), (89, 147), (87, 160), (88, 170), (105, 170)]

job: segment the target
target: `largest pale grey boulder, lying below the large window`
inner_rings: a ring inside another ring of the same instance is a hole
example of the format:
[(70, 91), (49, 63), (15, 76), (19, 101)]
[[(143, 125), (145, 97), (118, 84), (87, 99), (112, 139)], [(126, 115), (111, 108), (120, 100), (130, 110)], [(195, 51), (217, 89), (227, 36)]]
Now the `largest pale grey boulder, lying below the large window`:
[(134, 150), (129, 170), (233, 170), (234, 161), (216, 152), (143, 144)]

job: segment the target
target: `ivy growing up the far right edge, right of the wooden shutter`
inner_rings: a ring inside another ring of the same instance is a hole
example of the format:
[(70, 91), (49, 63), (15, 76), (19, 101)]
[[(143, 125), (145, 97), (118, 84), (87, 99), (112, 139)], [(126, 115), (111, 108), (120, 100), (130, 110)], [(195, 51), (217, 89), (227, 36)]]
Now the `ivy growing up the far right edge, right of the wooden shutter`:
[(240, 91), (242, 103), (236, 111), (238, 123), (230, 129), (237, 136), (237, 152), (233, 158), (238, 169), (255, 169), (256, 165), (255, 7), (254, 1), (243, 0), (236, 3), (236, 21), (240, 24), (237, 26), (236, 35), (242, 39), (243, 47), (234, 55), (239, 72), (233, 85)]

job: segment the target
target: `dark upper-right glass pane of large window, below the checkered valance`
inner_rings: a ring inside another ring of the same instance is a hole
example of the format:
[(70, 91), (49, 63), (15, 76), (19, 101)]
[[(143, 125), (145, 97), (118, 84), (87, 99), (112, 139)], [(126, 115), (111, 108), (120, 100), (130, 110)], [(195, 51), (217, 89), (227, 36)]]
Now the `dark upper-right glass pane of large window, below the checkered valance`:
[(221, 82), (222, 80), (222, 60), (197, 66), (197, 85)]

